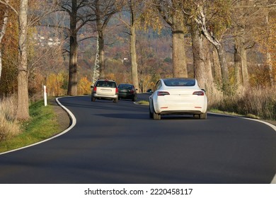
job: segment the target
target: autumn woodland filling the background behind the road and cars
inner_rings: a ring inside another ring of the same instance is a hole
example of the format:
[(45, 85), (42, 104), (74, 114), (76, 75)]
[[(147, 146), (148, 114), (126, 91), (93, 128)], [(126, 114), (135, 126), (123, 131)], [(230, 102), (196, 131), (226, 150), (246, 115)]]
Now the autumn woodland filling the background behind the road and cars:
[[(14, 111), (4, 113), (8, 122), (26, 118), (18, 116), (17, 99), (18, 74), (24, 71), (18, 67), (22, 1), (0, 1), (2, 107), (6, 98), (15, 98)], [(73, 4), (83, 8), (75, 18)], [(104, 52), (99, 77), (133, 83), (139, 92), (159, 78), (196, 77), (207, 90), (209, 109), (276, 120), (273, 0), (29, 0), (28, 8), (28, 104), (42, 98), (43, 85), (52, 96), (90, 94), (98, 37)], [(174, 42), (175, 35), (181, 40)]]

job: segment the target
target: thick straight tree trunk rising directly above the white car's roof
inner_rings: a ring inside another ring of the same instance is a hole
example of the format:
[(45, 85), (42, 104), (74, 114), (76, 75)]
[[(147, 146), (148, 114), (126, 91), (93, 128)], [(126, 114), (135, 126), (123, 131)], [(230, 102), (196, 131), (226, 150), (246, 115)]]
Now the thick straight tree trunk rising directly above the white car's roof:
[(173, 32), (173, 77), (188, 77), (183, 22), (176, 21), (172, 25)]

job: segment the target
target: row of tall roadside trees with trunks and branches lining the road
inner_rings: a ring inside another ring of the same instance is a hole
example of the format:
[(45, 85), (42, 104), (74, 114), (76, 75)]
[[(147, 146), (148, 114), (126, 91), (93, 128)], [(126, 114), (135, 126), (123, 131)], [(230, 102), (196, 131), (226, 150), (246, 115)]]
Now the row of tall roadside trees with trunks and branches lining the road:
[[(137, 30), (161, 31), (163, 28), (171, 30), (171, 76), (190, 76), (186, 54), (189, 39), (192, 46), (192, 77), (197, 78), (200, 86), (206, 88), (210, 95), (227, 96), (234, 89), (250, 86), (247, 50), (260, 45), (268, 64), (269, 84), (275, 87), (276, 42), (272, 35), (275, 33), (273, 20), (276, 4), (272, 0), (0, 0), (0, 7), (0, 82), (5, 81), (1, 78), (2, 50), (6, 64), (8, 52), (18, 54), (18, 61), (11, 64), (15, 65), (11, 73), (17, 76), (17, 86), (13, 91), (17, 92), (18, 120), (29, 117), (30, 72), (41, 68), (42, 59), (48, 60), (44, 70), (47, 67), (51, 70), (54, 66), (50, 66), (50, 59), (55, 59), (52, 65), (58, 64), (62, 54), (69, 54), (67, 95), (77, 95), (79, 42), (98, 37), (99, 77), (110, 75), (105, 65), (105, 34), (112, 18), (125, 25), (125, 32), (129, 35), (132, 83), (137, 88), (141, 86)], [(38, 52), (32, 52), (32, 33), (38, 27), (54, 30), (56, 35), (62, 37), (62, 45), (37, 56)], [(90, 30), (90, 34), (80, 37), (84, 27)], [(14, 40), (11, 41), (11, 38)], [(226, 60), (226, 50), (229, 50), (225, 47), (226, 40), (231, 40), (233, 44), (234, 83), (231, 82)], [(56, 53), (53, 49), (57, 50), (54, 50)]]

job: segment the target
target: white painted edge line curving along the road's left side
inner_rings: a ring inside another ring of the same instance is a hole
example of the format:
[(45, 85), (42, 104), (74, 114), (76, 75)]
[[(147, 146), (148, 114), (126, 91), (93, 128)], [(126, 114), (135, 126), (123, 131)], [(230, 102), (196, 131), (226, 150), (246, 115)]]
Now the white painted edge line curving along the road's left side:
[[(59, 97), (59, 98), (66, 98), (66, 97), (70, 97), (70, 96)], [(1, 155), (4, 155), (4, 154), (6, 154), (6, 153), (11, 153), (11, 152), (14, 152), (14, 151), (22, 150), (22, 149), (24, 149), (24, 148), (29, 148), (29, 147), (31, 147), (31, 146), (35, 146), (35, 145), (38, 145), (38, 144), (42, 144), (42, 143), (44, 143), (44, 142), (46, 142), (46, 141), (50, 141), (50, 140), (52, 140), (52, 139), (55, 139), (55, 138), (57, 138), (58, 136), (62, 136), (63, 134), (66, 134), (66, 133), (69, 132), (71, 129), (73, 129), (73, 127), (75, 127), (75, 125), (76, 125), (76, 117), (74, 116), (74, 114), (73, 114), (69, 109), (67, 109), (67, 107), (64, 107), (64, 105), (62, 105), (62, 103), (59, 102), (59, 100), (58, 100), (59, 98), (56, 98), (57, 104), (58, 104), (60, 107), (62, 107), (62, 108), (68, 113), (69, 117), (71, 118), (71, 125), (70, 125), (67, 129), (65, 129), (63, 132), (61, 132), (61, 133), (59, 133), (59, 134), (56, 134), (55, 136), (52, 136), (52, 137), (50, 137), (50, 138), (48, 138), (48, 139), (45, 139), (45, 140), (42, 140), (42, 141), (38, 141), (37, 143), (30, 144), (30, 145), (28, 145), (28, 146), (23, 146), (23, 147), (21, 147), (21, 148), (16, 148), (16, 149), (13, 149), (13, 150), (11, 150), (11, 151), (6, 151), (6, 152), (3, 152), (3, 153), (0, 153), (0, 156), (1, 156)]]

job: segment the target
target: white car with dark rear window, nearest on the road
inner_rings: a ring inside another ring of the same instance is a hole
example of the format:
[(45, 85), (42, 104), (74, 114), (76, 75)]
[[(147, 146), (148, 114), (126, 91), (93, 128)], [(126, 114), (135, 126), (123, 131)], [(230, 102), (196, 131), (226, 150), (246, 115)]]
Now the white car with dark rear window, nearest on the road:
[(190, 114), (207, 119), (207, 96), (195, 78), (163, 78), (157, 81), (149, 96), (149, 117)]

